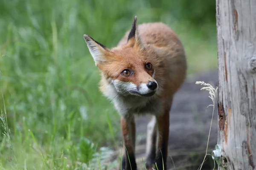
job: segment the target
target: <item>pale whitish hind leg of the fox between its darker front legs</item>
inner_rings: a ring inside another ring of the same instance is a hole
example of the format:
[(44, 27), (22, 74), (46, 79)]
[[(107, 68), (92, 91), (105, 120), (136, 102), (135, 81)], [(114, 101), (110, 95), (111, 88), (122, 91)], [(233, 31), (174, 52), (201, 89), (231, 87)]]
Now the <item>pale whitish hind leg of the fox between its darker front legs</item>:
[(157, 142), (157, 120), (152, 116), (147, 126), (147, 145), (146, 145), (146, 163), (148, 170), (155, 167), (156, 163), (156, 142)]

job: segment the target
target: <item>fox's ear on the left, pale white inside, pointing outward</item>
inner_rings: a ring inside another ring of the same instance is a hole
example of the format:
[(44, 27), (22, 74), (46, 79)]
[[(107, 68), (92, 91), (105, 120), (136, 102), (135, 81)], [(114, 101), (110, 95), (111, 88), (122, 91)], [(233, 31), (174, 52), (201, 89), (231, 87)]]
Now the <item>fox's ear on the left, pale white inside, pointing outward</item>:
[(93, 40), (93, 38), (87, 34), (84, 34), (84, 40), (87, 43), (90, 54), (94, 59), (95, 65), (106, 61), (105, 55), (109, 51), (109, 49), (105, 45)]

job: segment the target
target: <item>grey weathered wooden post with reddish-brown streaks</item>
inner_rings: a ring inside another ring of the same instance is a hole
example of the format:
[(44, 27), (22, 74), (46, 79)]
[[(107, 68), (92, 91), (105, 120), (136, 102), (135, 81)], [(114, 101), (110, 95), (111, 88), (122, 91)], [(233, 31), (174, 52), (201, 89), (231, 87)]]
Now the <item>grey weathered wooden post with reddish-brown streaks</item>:
[(256, 169), (256, 0), (216, 0), (219, 170)]

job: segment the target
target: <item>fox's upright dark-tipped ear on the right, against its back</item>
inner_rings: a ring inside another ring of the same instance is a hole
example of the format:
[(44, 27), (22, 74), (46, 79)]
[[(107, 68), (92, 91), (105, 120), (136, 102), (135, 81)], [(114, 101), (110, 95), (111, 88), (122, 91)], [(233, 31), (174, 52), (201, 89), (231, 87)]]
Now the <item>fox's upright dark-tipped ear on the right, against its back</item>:
[(129, 46), (137, 46), (141, 50), (144, 49), (143, 41), (140, 37), (139, 30), (137, 29), (137, 16), (134, 17), (134, 22), (131, 27), (131, 31), (128, 35), (127, 44)]

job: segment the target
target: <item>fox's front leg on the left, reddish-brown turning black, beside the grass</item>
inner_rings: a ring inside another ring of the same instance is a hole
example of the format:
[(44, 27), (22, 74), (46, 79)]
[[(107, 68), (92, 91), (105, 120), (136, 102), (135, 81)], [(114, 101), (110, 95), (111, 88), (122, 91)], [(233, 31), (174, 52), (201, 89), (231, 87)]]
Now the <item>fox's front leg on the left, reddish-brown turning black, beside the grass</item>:
[(121, 117), (121, 127), (123, 136), (123, 156), (122, 170), (137, 170), (135, 160), (135, 122), (134, 118), (125, 120)]

